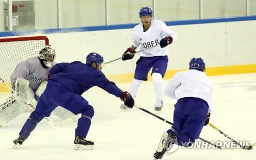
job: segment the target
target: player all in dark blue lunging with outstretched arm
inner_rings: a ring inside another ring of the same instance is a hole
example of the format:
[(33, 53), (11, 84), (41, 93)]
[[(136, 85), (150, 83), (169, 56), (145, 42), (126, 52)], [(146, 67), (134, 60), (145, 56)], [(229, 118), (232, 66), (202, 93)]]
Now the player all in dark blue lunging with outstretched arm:
[(114, 82), (109, 81), (101, 72), (103, 57), (97, 53), (90, 53), (86, 57), (86, 64), (80, 61), (72, 63), (58, 63), (50, 70), (45, 92), (42, 93), (35, 111), (19, 132), (18, 139), (14, 140), (14, 148), (22, 145), (30, 133), (44, 117), (57, 107), (62, 106), (75, 115), (81, 113), (75, 129), (75, 150), (93, 149), (94, 142), (86, 140), (91, 120), (94, 116), (93, 106), (81, 95), (93, 86), (98, 86), (106, 92), (120, 97), (129, 108), (134, 106), (132, 96), (119, 89)]

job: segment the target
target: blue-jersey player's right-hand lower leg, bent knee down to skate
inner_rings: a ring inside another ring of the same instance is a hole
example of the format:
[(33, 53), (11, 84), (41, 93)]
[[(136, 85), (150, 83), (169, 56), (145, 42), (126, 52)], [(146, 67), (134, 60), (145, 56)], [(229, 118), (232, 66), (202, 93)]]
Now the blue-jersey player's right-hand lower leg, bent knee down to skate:
[(74, 149), (91, 150), (94, 149), (94, 142), (86, 140), (86, 136), (94, 116), (94, 109), (91, 105), (87, 105), (81, 113), (82, 116), (78, 119), (77, 128), (75, 130)]

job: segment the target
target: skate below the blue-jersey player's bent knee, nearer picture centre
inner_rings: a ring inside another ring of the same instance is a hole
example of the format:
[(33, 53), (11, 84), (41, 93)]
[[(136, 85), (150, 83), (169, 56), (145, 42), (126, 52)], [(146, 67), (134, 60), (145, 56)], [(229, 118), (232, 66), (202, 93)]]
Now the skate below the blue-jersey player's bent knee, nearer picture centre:
[(94, 142), (87, 141), (81, 136), (76, 136), (74, 141), (74, 150), (91, 150), (94, 149)]

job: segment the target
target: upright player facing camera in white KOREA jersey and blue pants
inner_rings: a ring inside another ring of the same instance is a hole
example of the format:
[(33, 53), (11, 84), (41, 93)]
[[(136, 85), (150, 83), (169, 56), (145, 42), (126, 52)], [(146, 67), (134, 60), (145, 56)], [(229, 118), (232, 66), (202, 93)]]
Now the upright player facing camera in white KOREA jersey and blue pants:
[[(136, 97), (140, 85), (147, 80), (147, 74), (152, 68), (156, 95), (155, 110), (159, 111), (163, 107), (163, 77), (167, 69), (167, 55), (169, 54), (166, 46), (176, 41), (177, 34), (170, 30), (163, 21), (153, 19), (152, 15), (153, 12), (149, 7), (140, 9), (139, 16), (142, 23), (133, 28), (133, 44), (124, 52), (122, 60), (132, 59), (139, 45), (141, 49), (152, 48), (139, 53), (140, 58), (136, 62), (130, 93), (133, 98)], [(126, 108), (123, 105), (120, 107)]]

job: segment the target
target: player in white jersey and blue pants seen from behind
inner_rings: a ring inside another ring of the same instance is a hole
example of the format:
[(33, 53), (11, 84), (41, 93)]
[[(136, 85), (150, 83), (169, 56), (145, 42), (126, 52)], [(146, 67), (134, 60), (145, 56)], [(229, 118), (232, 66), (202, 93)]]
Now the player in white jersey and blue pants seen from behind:
[(174, 144), (189, 147), (209, 123), (212, 110), (212, 82), (205, 74), (202, 58), (192, 58), (189, 70), (178, 72), (164, 87), (164, 95), (177, 100), (174, 125), (163, 133), (154, 154), (161, 159)]

